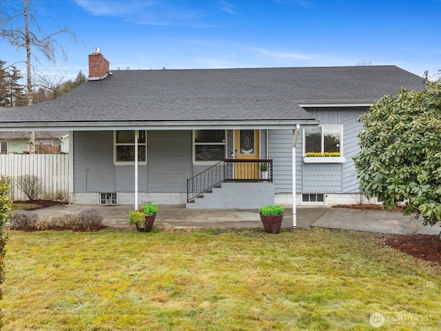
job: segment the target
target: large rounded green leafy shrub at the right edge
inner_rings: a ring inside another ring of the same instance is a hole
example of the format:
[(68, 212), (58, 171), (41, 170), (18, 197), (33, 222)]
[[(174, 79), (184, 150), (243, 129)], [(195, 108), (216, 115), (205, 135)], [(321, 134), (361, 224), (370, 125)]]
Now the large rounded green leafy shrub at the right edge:
[(385, 96), (360, 116), (365, 130), (353, 158), (360, 190), (388, 209), (441, 223), (441, 85)]

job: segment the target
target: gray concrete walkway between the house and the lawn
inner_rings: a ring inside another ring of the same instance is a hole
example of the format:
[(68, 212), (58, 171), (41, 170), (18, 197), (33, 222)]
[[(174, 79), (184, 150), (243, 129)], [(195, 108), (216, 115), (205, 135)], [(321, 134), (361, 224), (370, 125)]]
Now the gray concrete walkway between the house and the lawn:
[[(35, 210), (37, 214), (79, 214), (94, 209), (103, 223), (112, 228), (127, 228), (132, 205), (54, 205)], [(283, 228), (292, 228), (292, 208), (285, 208)], [(159, 205), (156, 227), (172, 228), (263, 228), (258, 210), (194, 210), (184, 205)], [(357, 210), (330, 207), (298, 207), (297, 228), (331, 228), (394, 234), (439, 234), (439, 225), (423, 226), (421, 219), (404, 217), (400, 212)]]

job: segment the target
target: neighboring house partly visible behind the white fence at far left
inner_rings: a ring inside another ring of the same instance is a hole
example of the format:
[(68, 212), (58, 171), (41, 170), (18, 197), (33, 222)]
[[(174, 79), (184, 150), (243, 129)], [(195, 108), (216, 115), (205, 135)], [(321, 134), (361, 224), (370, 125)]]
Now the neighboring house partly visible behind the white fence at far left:
[[(17, 111), (19, 108), (8, 108)], [(68, 152), (68, 131), (35, 132), (35, 152), (37, 154), (57, 154)], [(29, 154), (29, 132), (0, 131), (0, 154)]]

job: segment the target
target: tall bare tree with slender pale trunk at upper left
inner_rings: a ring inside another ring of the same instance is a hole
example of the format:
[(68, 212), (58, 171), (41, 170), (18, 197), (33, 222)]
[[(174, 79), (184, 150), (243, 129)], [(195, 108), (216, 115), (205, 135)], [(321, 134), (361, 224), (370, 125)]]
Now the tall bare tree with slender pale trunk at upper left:
[[(7, 39), (12, 46), (26, 50), (26, 93), (28, 95), (28, 105), (32, 105), (32, 90), (34, 86), (37, 85), (32, 81), (32, 56), (35, 61), (39, 62), (39, 58), (35, 54), (37, 52), (42, 54), (48, 62), (55, 64), (55, 54), (57, 50), (61, 50), (63, 59), (67, 59), (67, 54), (58, 43), (56, 37), (58, 34), (68, 33), (76, 42), (76, 35), (70, 32), (68, 28), (62, 28), (44, 37), (40, 37), (41, 28), (35, 17), (28, 10), (28, 0), (23, 0), (23, 9), (14, 8), (6, 0), (3, 0), (3, 2), (6, 4), (5, 8), (8, 9), (8, 11), (5, 10), (1, 13), (1, 17), (3, 18), (0, 21), (0, 36)], [(34, 30), (30, 29), (30, 23), (34, 27)], [(34, 154), (34, 132), (30, 133), (29, 149), (29, 152)]]

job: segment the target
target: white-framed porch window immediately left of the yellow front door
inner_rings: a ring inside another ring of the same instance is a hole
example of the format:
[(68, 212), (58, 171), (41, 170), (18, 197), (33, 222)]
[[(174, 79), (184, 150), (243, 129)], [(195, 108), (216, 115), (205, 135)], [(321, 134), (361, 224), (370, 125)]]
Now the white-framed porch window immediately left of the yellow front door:
[(222, 161), (226, 153), (225, 130), (194, 130), (194, 161)]

